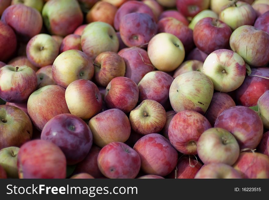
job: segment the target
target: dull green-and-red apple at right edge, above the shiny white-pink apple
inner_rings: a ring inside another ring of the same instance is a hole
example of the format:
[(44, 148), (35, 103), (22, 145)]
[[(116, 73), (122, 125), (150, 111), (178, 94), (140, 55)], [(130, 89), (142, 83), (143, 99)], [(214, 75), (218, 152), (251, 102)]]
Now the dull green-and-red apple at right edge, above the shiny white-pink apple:
[(268, 45), (269, 34), (249, 25), (238, 27), (230, 37), (231, 49), (253, 67), (269, 63), (269, 51), (264, 49)]

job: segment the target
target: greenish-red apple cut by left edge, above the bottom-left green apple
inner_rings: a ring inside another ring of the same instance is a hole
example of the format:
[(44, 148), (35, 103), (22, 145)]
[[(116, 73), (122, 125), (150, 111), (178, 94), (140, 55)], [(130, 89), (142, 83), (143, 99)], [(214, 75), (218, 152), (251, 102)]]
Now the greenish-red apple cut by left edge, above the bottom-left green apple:
[(0, 105), (0, 149), (20, 147), (31, 140), (33, 125), (28, 115), (20, 108), (11, 105)]

